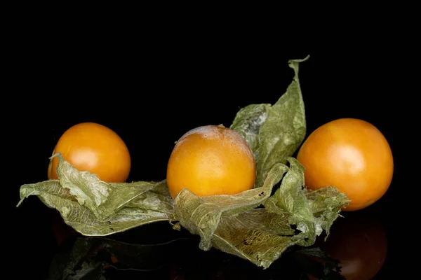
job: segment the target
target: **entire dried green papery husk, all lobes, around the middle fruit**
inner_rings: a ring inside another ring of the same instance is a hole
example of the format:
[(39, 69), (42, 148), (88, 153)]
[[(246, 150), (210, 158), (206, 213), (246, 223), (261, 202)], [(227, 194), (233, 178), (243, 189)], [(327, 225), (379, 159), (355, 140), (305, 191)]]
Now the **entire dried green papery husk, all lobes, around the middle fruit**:
[(165, 180), (105, 183), (95, 174), (79, 172), (58, 154), (59, 180), (21, 186), (18, 205), (36, 195), (82, 235), (112, 235), (167, 221), (175, 229), (182, 226), (199, 235), (203, 250), (216, 248), (269, 267), (286, 248), (312, 245), (323, 230), (328, 235), (349, 203), (334, 186), (304, 188), (304, 168), (292, 158), (306, 131), (298, 80), (298, 64), (303, 61), (290, 60), (295, 76), (273, 106), (250, 104), (230, 127), (253, 150), (255, 188), (210, 197), (185, 189), (173, 200)]

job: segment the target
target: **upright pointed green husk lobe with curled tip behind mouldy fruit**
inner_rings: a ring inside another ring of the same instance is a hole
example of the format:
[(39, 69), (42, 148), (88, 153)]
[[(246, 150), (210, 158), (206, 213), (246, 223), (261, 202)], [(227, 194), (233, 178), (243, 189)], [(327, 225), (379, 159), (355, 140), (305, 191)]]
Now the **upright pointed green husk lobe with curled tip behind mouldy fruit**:
[(292, 59), (289, 66), (295, 76), (286, 92), (271, 107), (252, 104), (241, 109), (231, 125), (252, 148), (256, 160), (255, 187), (262, 186), (267, 172), (276, 162), (286, 163), (305, 138), (305, 108), (302, 100), (298, 66), (305, 59)]

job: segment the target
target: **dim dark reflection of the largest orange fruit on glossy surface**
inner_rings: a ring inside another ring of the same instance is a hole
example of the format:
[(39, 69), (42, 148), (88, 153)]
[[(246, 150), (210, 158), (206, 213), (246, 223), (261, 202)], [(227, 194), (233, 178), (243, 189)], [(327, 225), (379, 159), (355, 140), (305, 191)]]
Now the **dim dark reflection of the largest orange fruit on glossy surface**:
[(348, 215), (335, 221), (320, 247), (340, 261), (347, 280), (368, 280), (385, 262), (387, 237), (379, 221)]

